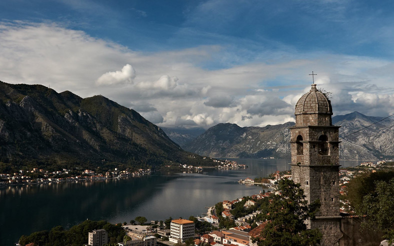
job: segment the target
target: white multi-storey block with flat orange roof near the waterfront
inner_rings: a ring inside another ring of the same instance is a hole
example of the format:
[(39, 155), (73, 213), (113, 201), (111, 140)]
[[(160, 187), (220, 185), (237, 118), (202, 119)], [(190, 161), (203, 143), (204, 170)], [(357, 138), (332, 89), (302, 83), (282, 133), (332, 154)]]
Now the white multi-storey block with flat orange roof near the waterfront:
[(187, 219), (174, 219), (171, 221), (171, 235), (169, 241), (184, 242), (187, 238), (194, 237), (194, 222)]

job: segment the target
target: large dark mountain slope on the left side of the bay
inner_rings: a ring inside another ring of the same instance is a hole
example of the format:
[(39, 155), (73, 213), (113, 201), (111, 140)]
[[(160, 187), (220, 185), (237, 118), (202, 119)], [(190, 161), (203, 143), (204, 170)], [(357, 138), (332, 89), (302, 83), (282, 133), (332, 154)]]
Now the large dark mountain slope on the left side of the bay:
[[(159, 165), (190, 153), (139, 113), (101, 95), (0, 82), (0, 161)], [(193, 158), (194, 160), (195, 158)]]

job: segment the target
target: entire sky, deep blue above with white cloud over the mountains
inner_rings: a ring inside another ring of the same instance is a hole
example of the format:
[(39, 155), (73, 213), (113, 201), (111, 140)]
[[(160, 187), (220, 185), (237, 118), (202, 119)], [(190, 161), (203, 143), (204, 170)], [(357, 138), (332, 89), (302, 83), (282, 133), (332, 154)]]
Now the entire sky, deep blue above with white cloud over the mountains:
[(394, 113), (394, 1), (2, 0), (0, 80), (103, 95), (163, 127)]

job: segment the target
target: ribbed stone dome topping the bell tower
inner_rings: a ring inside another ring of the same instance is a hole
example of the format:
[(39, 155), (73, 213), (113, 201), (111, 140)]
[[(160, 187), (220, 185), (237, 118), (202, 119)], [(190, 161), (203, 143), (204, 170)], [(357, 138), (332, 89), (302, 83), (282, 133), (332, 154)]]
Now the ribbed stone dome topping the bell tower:
[(331, 102), (327, 96), (316, 89), (316, 84), (312, 84), (310, 91), (303, 94), (295, 104), (295, 115), (310, 113), (327, 113), (332, 115)]

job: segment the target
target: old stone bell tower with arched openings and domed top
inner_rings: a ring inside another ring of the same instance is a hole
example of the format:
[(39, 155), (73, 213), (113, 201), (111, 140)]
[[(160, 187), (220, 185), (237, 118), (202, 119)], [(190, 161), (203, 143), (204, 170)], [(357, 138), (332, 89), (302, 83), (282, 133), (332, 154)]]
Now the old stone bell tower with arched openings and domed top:
[(339, 228), (340, 126), (332, 125), (331, 102), (314, 83), (297, 101), (294, 114), (295, 126), (290, 127), (292, 179), (301, 184), (308, 202), (320, 200), (316, 218), (307, 223), (312, 229), (320, 229), (321, 245), (338, 245), (342, 235)]

